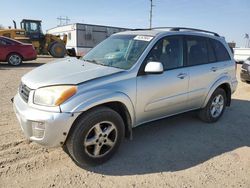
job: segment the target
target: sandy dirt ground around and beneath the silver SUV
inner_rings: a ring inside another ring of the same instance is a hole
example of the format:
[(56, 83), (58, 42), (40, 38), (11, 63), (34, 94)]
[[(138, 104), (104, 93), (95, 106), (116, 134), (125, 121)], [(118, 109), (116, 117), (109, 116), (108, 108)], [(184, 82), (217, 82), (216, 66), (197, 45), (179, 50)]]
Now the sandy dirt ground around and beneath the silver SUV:
[(219, 122), (187, 113), (135, 128), (109, 162), (81, 169), (27, 141), (12, 110), (21, 76), (50, 60), (0, 64), (0, 187), (250, 187), (250, 84), (239, 81)]

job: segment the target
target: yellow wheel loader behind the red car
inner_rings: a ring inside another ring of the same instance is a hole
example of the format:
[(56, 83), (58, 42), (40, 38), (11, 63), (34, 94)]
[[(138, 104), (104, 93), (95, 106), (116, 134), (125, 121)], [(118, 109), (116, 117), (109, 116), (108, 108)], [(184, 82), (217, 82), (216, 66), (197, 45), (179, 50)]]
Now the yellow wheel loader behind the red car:
[(0, 36), (6, 36), (21, 42), (32, 43), (38, 54), (50, 54), (56, 58), (62, 58), (66, 55), (67, 36), (55, 36), (51, 34), (43, 34), (41, 28), (41, 20), (23, 19), (21, 29), (0, 30)]

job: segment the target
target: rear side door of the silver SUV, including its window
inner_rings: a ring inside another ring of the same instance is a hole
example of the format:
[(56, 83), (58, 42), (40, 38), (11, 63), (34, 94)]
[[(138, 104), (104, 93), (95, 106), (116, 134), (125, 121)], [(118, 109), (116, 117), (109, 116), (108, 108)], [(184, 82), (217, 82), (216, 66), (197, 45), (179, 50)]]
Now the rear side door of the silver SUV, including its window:
[(217, 57), (216, 40), (186, 36), (185, 41), (190, 74), (188, 105), (190, 109), (196, 109), (201, 107), (215, 81), (225, 74), (226, 62)]

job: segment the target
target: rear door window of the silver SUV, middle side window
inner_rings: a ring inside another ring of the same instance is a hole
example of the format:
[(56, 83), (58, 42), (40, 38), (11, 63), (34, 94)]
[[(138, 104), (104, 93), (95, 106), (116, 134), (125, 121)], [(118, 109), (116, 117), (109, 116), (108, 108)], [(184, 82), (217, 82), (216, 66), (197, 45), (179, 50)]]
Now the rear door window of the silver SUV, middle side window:
[[(207, 39), (204, 37), (186, 37), (187, 63), (189, 66), (209, 63)], [(212, 57), (211, 57), (212, 59)]]

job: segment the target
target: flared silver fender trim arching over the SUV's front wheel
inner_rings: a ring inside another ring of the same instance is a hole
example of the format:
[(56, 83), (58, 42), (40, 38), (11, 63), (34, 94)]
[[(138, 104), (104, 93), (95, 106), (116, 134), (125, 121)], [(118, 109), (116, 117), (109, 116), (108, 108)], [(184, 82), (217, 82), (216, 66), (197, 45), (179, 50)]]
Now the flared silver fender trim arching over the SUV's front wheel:
[[(95, 106), (99, 106), (109, 102), (121, 102), (124, 104), (131, 117), (131, 123), (135, 123), (134, 105), (130, 97), (122, 92), (112, 92), (106, 89), (95, 90), (87, 92), (75, 97), (70, 104), (62, 105), (62, 112), (69, 112), (72, 114), (87, 111)], [(69, 110), (70, 109), (70, 110)]]

